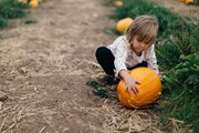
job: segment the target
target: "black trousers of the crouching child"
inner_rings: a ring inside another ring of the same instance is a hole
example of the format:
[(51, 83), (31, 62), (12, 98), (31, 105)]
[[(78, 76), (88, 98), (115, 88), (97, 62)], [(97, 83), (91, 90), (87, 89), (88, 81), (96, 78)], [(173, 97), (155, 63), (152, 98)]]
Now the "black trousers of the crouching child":
[[(103, 68), (104, 72), (108, 75), (114, 75), (114, 70), (115, 70), (115, 65), (114, 65), (114, 55), (112, 53), (112, 51), (109, 49), (107, 49), (106, 47), (100, 47), (96, 52), (95, 52), (95, 57), (97, 62), (101, 64), (101, 66)], [(128, 70), (133, 70), (135, 68), (138, 66), (147, 66), (147, 62), (142, 62), (135, 66), (132, 68), (127, 68)]]

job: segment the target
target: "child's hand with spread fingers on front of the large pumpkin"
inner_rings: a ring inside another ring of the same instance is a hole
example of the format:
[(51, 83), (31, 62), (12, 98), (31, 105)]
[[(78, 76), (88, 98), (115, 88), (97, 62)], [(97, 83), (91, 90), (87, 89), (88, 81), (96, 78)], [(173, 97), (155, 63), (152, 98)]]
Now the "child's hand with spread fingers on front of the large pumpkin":
[(134, 93), (137, 95), (137, 93), (139, 93), (139, 90), (137, 89), (136, 86), (136, 83), (137, 84), (140, 84), (140, 82), (138, 82), (137, 80), (133, 79), (133, 78), (128, 78), (125, 80), (125, 84), (126, 84), (126, 92), (130, 94), (130, 90), (134, 91)]

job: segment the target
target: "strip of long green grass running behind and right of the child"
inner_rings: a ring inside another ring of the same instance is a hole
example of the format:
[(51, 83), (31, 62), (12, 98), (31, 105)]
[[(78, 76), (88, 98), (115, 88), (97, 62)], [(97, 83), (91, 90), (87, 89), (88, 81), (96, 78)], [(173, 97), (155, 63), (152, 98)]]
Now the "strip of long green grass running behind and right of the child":
[(123, 3), (112, 19), (150, 14), (159, 20), (156, 52), (164, 73), (163, 96), (154, 111), (160, 116), (163, 130), (171, 132), (175, 120), (179, 126), (186, 125), (187, 132), (198, 132), (199, 21), (177, 16), (146, 0), (123, 0)]

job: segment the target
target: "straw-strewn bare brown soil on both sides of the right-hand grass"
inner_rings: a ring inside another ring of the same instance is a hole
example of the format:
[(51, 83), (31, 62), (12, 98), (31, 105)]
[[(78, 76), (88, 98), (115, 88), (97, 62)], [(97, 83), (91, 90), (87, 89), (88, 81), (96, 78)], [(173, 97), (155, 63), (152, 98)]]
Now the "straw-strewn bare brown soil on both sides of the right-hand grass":
[[(177, 0), (155, 1), (180, 14), (199, 14), (198, 7)], [(114, 7), (104, 0), (45, 0), (28, 12), (0, 31), (2, 133), (163, 132), (149, 109), (121, 105), (115, 84), (108, 99), (86, 85), (104, 74), (95, 50), (116, 38), (108, 30), (116, 24), (108, 18)]]

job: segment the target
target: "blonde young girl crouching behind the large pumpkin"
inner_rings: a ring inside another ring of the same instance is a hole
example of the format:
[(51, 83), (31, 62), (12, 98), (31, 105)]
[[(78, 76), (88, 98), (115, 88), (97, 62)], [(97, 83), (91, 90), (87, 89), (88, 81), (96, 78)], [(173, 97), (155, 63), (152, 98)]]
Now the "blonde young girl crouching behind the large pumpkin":
[(129, 93), (133, 90), (137, 94), (139, 90), (135, 84), (139, 84), (139, 81), (133, 79), (128, 74), (128, 70), (148, 66), (159, 73), (154, 45), (157, 33), (157, 19), (150, 16), (139, 16), (113, 44), (100, 47), (95, 55), (107, 74), (102, 82), (113, 81), (114, 71), (116, 71), (116, 75), (125, 81), (126, 92)]

